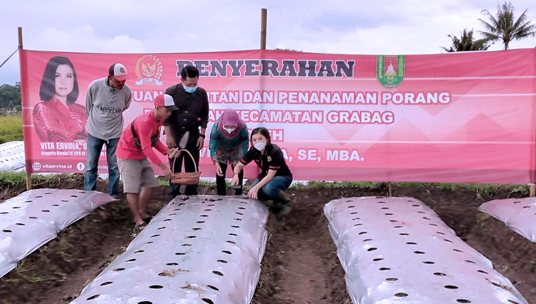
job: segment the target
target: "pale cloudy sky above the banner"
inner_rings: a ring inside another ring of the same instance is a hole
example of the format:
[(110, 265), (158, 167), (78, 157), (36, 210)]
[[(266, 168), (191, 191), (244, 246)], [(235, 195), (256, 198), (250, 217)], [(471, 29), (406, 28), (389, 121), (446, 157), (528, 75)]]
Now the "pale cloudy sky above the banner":
[[(513, 0), (516, 16), (535, 0)], [(501, 2), (502, 4), (503, 2)], [(483, 29), (482, 9), (497, 1), (375, 0), (0, 0), (0, 64), (24, 49), (98, 53), (187, 53), (259, 49), (261, 9), (268, 10), (267, 49), (330, 54), (439, 54), (463, 29)], [(477, 34), (480, 38), (480, 34)], [(536, 38), (513, 41), (532, 48)], [(495, 43), (490, 50), (503, 46)], [(19, 56), (0, 68), (0, 85), (20, 81)]]

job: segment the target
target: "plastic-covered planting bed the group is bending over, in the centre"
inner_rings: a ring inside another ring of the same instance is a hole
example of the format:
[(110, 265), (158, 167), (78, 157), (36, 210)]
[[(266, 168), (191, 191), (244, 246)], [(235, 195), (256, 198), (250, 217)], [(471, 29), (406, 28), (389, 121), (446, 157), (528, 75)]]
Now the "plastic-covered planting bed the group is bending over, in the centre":
[(249, 303), (267, 218), (240, 196), (177, 197), (71, 303)]

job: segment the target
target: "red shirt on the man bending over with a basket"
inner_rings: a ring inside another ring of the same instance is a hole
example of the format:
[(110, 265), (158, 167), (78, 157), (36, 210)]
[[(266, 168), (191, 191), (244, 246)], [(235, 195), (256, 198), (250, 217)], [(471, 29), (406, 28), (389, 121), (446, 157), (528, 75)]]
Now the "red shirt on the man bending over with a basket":
[[(130, 128), (130, 123), (126, 128), (124, 128), (121, 138), (119, 138), (119, 144), (115, 154), (119, 158), (123, 159), (144, 159), (149, 158), (149, 161), (158, 165), (162, 163), (160, 158), (153, 151), (151, 146), (151, 136), (155, 136), (160, 132), (160, 126), (162, 126), (164, 121), (157, 121), (154, 118), (154, 112), (144, 113), (134, 119), (134, 131), (138, 136), (139, 142), (142, 143), (142, 149), (136, 146), (134, 143), (134, 135), (132, 135), (132, 130)], [(167, 147), (164, 146), (162, 141), (157, 141), (156, 146), (157, 150), (166, 155)]]

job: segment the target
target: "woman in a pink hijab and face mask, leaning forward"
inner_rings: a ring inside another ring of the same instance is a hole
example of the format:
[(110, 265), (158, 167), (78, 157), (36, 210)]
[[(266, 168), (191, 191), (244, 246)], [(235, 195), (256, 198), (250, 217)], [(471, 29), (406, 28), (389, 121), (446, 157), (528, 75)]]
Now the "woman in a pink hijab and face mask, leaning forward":
[[(216, 167), (216, 188), (219, 196), (224, 196), (227, 193), (225, 187), (227, 163), (230, 163), (232, 170), (234, 170), (234, 166), (246, 155), (248, 143), (246, 123), (239, 118), (237, 111), (228, 108), (222, 113), (222, 116), (219, 116), (210, 132), (209, 150), (212, 162)], [(240, 195), (242, 194), (244, 173), (241, 171), (238, 177), (238, 187), (235, 188), (235, 194)]]

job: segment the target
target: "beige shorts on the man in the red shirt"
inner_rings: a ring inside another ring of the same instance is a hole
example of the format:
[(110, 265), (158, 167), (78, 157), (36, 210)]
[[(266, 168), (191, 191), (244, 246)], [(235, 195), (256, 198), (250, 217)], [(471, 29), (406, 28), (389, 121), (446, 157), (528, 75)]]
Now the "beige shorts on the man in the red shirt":
[(144, 159), (117, 158), (117, 166), (123, 179), (124, 193), (139, 193), (143, 188), (157, 187), (157, 178), (151, 163)]

